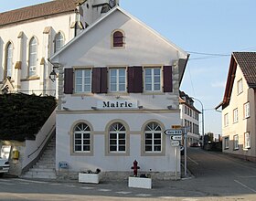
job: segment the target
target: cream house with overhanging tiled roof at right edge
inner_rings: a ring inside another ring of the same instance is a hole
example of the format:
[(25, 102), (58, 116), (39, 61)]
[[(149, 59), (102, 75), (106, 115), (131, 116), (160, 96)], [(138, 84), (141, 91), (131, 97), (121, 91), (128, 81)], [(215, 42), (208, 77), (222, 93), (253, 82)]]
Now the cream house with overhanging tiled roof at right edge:
[(256, 52), (233, 52), (222, 108), (222, 149), (256, 161)]

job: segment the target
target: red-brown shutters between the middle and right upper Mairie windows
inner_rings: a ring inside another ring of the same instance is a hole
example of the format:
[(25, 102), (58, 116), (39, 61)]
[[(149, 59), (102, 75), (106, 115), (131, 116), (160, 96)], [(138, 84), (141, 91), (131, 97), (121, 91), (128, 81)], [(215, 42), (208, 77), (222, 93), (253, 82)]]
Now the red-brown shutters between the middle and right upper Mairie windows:
[(128, 68), (128, 93), (143, 92), (143, 68), (129, 67)]

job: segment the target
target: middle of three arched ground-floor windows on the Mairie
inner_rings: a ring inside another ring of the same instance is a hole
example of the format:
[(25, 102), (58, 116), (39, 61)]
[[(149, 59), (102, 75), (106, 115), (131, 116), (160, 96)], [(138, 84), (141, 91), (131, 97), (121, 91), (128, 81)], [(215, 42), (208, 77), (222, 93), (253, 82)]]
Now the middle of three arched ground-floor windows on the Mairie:
[(110, 127), (110, 152), (125, 153), (126, 151), (126, 130), (122, 123), (112, 123)]

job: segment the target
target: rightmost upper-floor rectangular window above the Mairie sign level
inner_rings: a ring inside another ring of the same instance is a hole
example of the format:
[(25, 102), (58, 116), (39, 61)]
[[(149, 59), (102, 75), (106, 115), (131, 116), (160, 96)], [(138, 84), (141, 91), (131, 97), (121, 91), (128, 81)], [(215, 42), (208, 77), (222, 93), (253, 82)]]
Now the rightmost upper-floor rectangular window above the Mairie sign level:
[(144, 90), (161, 91), (161, 69), (146, 68), (144, 69)]

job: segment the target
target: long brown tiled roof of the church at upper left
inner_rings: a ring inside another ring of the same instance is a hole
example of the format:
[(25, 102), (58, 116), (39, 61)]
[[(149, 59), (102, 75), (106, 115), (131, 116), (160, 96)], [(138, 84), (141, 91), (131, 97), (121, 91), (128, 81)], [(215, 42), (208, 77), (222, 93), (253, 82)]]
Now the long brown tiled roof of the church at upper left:
[(78, 3), (82, 4), (85, 1), (86, 0), (55, 0), (0, 13), (0, 27), (40, 17), (73, 12)]

